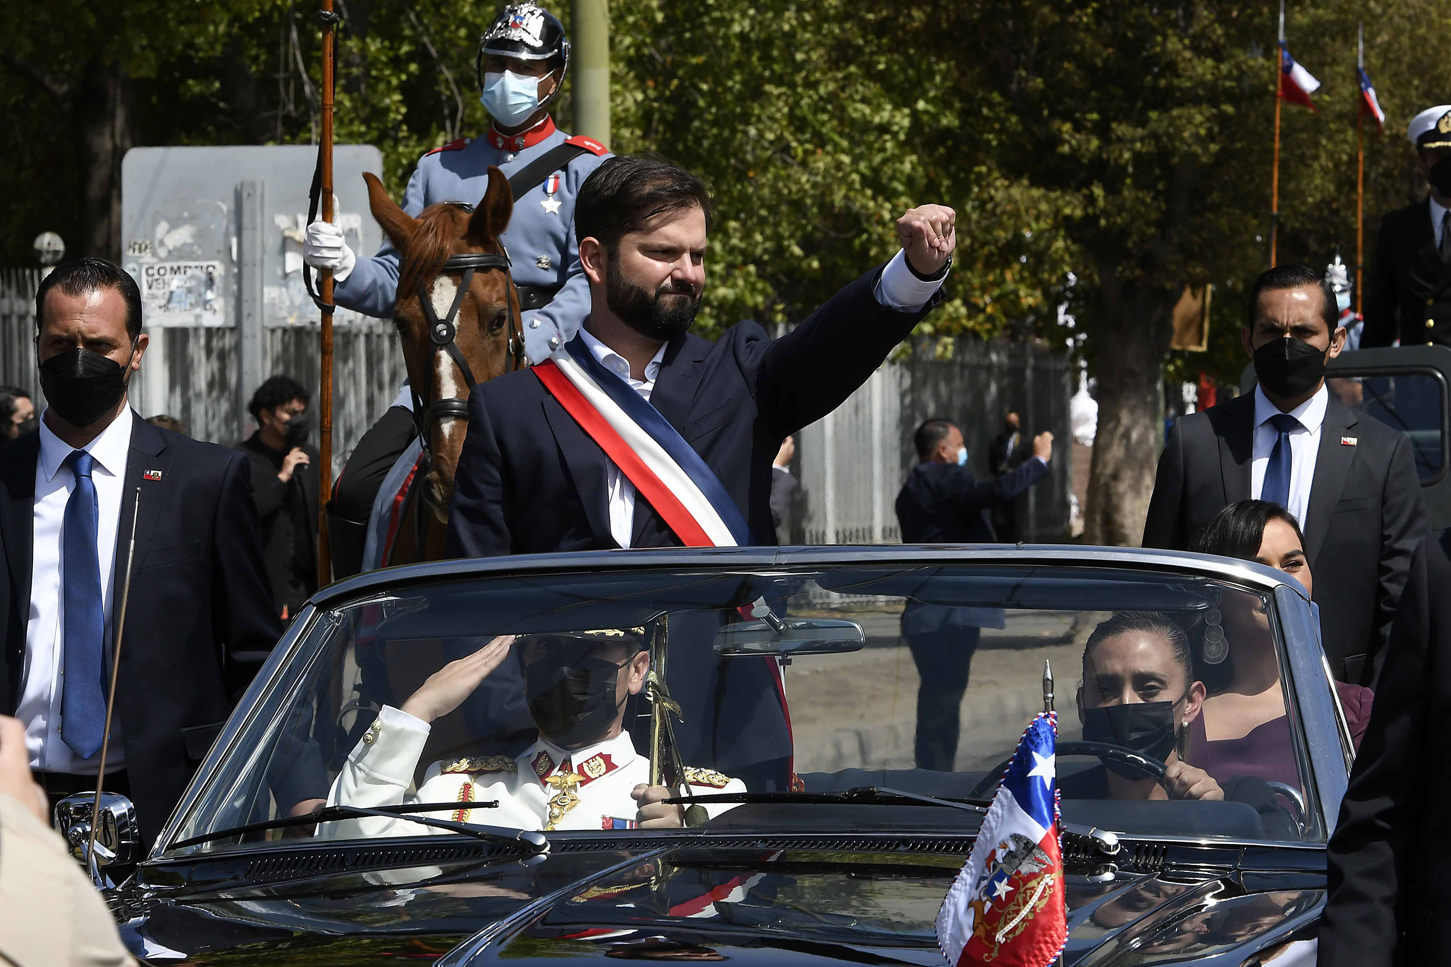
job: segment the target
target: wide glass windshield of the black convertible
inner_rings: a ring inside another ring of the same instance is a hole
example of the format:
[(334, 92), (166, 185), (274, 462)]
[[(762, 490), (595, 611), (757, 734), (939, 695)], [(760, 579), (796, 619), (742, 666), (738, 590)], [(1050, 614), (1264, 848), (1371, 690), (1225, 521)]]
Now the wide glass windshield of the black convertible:
[[(979, 810), (844, 793), (990, 799), (1045, 670), (1066, 822), (1323, 841), (1278, 628), (1270, 594), (1110, 567), (400, 583), (312, 616), (170, 852), (459, 835), (409, 816), (972, 832)], [(296, 822), (324, 806), (350, 809)]]

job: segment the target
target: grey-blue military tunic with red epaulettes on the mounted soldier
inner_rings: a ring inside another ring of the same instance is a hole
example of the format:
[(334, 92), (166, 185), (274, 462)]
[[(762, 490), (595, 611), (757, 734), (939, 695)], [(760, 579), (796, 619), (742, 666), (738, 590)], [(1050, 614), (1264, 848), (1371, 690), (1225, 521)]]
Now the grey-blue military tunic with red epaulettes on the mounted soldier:
[[(440, 202), (477, 204), (489, 187), (489, 165), (498, 165), (509, 177), (567, 138), (550, 119), (541, 129), (524, 135), (503, 136), (490, 130), (472, 141), (460, 138), (419, 158), (403, 190), (402, 207), (416, 216)], [(533, 144), (525, 146), (527, 142)], [(544, 360), (573, 338), (589, 313), (589, 284), (579, 267), (575, 238), (575, 197), (585, 178), (611, 155), (586, 138), (572, 144), (588, 151), (559, 171), (557, 184), (546, 178), (514, 200), (514, 216), (501, 239), (514, 261), (515, 284), (559, 290), (543, 309), (524, 310), (524, 345), (533, 361)], [(334, 299), (354, 312), (386, 319), (393, 315), (396, 291), (398, 251), (385, 241), (377, 255), (358, 258), (348, 277), (337, 284)], [(551, 339), (559, 342), (551, 345)]]

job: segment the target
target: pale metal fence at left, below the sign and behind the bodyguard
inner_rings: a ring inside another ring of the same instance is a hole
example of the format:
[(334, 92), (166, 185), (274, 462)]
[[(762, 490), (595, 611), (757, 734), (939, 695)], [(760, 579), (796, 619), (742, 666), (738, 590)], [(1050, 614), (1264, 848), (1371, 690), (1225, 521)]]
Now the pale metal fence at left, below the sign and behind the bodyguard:
[[(20, 386), (44, 404), (35, 368), (35, 289), (41, 271), (0, 268), (0, 383)], [(367, 428), (387, 409), (406, 377), (403, 349), (392, 322), (338, 313), (332, 360), (332, 439), (335, 470)], [(131, 387), (142, 416), (168, 413), (196, 439), (232, 445), (252, 432), (238, 393), (237, 326), (147, 326), (149, 345)], [(321, 383), (318, 323), (266, 325), (263, 373), (286, 373), (316, 399)], [(312, 413), (316, 428), (316, 415)], [(316, 432), (313, 433), (316, 439)]]

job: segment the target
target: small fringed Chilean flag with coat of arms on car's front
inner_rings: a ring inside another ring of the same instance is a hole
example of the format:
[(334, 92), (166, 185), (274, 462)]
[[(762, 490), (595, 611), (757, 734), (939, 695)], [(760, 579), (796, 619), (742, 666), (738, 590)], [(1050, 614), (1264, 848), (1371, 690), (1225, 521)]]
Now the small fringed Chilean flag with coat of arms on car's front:
[(1048, 967), (1068, 942), (1056, 745), (1058, 718), (1040, 712), (942, 902), (937, 945), (953, 967)]

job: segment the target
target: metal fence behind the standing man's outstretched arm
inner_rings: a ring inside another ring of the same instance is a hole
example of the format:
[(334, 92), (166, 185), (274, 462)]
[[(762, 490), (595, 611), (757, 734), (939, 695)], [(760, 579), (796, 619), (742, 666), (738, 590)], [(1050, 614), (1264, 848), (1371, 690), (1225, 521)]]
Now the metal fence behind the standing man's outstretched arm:
[(987, 477), (988, 444), (1017, 410), (1024, 433), (1051, 431), (1049, 476), (1029, 490), (1032, 541), (1068, 536), (1072, 448), (1068, 358), (1033, 344), (958, 339), (950, 358), (921, 344), (888, 362), (826, 419), (798, 435), (801, 487), (779, 529), (792, 544), (891, 544), (901, 539), (894, 503), (917, 462), (913, 431), (940, 416), (962, 428), (968, 464)]

